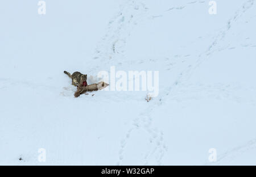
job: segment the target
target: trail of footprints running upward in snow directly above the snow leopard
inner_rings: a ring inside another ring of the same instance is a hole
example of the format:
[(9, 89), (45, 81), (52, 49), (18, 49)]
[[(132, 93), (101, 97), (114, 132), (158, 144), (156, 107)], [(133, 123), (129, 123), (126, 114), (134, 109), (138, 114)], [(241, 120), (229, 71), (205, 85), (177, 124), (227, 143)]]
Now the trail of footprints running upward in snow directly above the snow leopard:
[(131, 29), (143, 19), (146, 11), (147, 7), (138, 0), (128, 0), (121, 5), (121, 10), (110, 20), (106, 35), (96, 48), (93, 62), (100, 60), (105, 65), (110, 64), (110, 62), (118, 63), (117, 56), (123, 57), (126, 39), (130, 36)]

